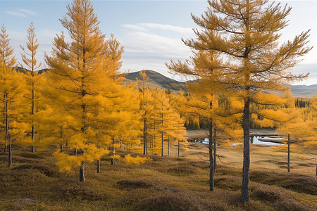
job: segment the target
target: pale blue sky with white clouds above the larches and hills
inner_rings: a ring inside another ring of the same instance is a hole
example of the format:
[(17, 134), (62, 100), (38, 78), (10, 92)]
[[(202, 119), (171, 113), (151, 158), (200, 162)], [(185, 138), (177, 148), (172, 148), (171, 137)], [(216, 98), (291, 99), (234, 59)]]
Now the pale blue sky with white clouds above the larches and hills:
[[(295, 84), (317, 84), (317, 0), (280, 2), (292, 7), (287, 17), (289, 25), (281, 31), (281, 43), (311, 29), (309, 46), (314, 48), (292, 70), (294, 74), (310, 72), (309, 79)], [(70, 3), (65, 0), (0, 0), (0, 24), (6, 27), (18, 61), (21, 62), (19, 45), (25, 46), (27, 28), (33, 22), (39, 42), (37, 60), (44, 63), (44, 52), (50, 54), (56, 34), (66, 32), (58, 19), (63, 18)], [(108, 37), (114, 34), (124, 46), (121, 70), (155, 70), (173, 79), (185, 79), (168, 73), (164, 63), (171, 59), (185, 60), (192, 55), (181, 38), (194, 38), (192, 28), (197, 25), (190, 14), (204, 13), (206, 1), (92, 0), (92, 4), (101, 22), (101, 31)]]

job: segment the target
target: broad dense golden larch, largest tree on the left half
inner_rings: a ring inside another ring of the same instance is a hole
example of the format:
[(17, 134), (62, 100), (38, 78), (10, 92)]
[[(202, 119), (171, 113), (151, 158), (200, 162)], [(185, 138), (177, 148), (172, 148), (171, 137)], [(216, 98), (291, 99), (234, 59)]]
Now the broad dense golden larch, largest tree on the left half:
[(120, 122), (116, 99), (122, 79), (116, 75), (123, 49), (114, 37), (106, 40), (101, 33), (91, 1), (74, 0), (67, 9), (61, 24), (70, 41), (63, 33), (54, 39), (51, 56), (45, 58), (50, 68), (47, 83), (61, 96), (52, 101), (52, 108), (61, 108), (73, 118), (68, 145), (78, 151), (77, 155), (57, 151), (57, 165), (61, 170), (80, 166), (80, 181), (85, 181), (85, 162), (108, 153), (104, 145), (111, 145), (113, 133), (106, 129)]

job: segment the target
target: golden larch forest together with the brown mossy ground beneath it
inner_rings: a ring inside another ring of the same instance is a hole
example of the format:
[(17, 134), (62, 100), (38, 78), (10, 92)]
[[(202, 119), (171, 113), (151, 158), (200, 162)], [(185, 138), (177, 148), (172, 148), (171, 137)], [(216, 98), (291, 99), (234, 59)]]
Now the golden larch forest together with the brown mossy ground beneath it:
[(317, 97), (285, 85), (309, 76), (290, 70), (310, 30), (280, 44), (289, 6), (208, 4), (192, 56), (166, 61), (194, 79), (180, 91), (127, 82), (90, 0), (66, 6), (46, 71), (34, 23), (22, 63), (2, 25), (0, 210), (316, 210)]

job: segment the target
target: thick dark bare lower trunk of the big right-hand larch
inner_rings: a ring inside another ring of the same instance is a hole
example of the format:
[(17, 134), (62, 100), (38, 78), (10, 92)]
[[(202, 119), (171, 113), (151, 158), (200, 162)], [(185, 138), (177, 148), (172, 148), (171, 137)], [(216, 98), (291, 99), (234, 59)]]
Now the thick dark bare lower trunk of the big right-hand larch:
[(249, 193), (249, 168), (250, 168), (250, 139), (249, 139), (249, 118), (250, 118), (250, 99), (244, 99), (243, 112), (243, 175), (241, 201), (245, 203), (250, 200)]

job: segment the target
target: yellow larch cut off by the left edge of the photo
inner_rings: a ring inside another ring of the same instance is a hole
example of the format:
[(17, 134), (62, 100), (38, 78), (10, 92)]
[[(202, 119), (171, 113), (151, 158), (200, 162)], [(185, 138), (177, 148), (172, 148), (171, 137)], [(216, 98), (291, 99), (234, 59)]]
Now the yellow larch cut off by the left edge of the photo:
[(16, 70), (16, 59), (9, 41), (6, 28), (2, 25), (0, 33), (0, 140), (8, 146), (8, 167), (11, 167), (12, 144), (24, 138), (25, 124), (21, 122), (23, 75)]

